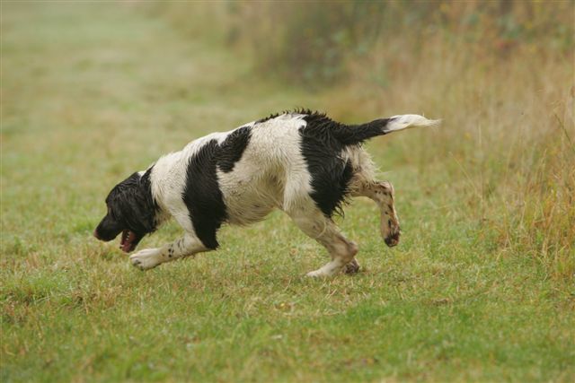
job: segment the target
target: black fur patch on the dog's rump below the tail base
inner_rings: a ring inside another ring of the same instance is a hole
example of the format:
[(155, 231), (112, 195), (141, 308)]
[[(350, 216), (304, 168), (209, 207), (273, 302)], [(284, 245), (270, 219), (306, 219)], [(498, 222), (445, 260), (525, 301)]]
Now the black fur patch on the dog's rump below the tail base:
[(342, 214), (341, 204), (349, 193), (353, 169), (349, 161), (341, 158), (345, 144), (333, 134), (341, 124), (321, 114), (304, 119), (307, 125), (299, 129), (299, 135), (307, 170), (312, 176), (311, 196), (326, 217), (336, 212)]

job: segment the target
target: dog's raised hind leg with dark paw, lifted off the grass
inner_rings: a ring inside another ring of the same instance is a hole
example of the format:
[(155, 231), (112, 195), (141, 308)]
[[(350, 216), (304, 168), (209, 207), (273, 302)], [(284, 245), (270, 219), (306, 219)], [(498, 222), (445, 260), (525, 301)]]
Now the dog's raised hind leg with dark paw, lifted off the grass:
[(363, 181), (354, 186), (352, 196), (367, 196), (379, 206), (380, 232), (387, 246), (399, 243), (400, 226), (394, 205), (394, 186), (387, 181)]

